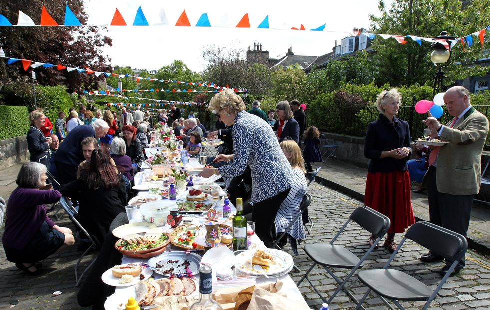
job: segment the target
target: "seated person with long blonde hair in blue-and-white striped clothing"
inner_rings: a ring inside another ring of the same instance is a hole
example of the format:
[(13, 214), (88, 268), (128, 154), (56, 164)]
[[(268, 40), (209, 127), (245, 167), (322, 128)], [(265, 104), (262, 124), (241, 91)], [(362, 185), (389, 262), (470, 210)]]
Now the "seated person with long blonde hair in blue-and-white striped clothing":
[[(303, 201), (303, 197), (308, 190), (308, 182), (304, 176), (306, 171), (304, 170), (304, 159), (301, 155), (301, 148), (294, 140), (284, 140), (280, 143), (280, 147), (291, 164), (292, 171), (294, 172), (294, 181), (291, 191), (280, 205), (277, 216), (275, 217), (274, 224), (277, 235), (285, 232), (289, 224), (296, 219), (300, 212), (299, 207)], [(306, 238), (302, 217), (298, 217), (286, 233), (291, 248), (297, 255), (297, 242)], [(279, 242), (279, 245), (285, 245), (286, 242), (287, 240), (284, 238)]]

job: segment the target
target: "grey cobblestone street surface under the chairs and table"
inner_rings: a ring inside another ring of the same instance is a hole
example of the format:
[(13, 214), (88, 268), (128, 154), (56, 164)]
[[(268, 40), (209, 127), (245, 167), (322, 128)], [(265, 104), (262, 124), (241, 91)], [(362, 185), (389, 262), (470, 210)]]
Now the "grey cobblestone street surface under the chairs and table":
[[(313, 196), (313, 202), (309, 207), (309, 213), (314, 222), (312, 234), (299, 245), (299, 255), (295, 262), (301, 268), (301, 272), (291, 272), (294, 281), (298, 281), (304, 272), (311, 266), (308, 256), (302, 248), (306, 243), (328, 243), (341, 225), (346, 221), (350, 213), (361, 206), (361, 202), (333, 191), (318, 183), (309, 187), (309, 193)], [(49, 214), (52, 218), (53, 213)], [(67, 216), (58, 221), (60, 226), (74, 227), (69, 223)], [(3, 228), (0, 235), (3, 235)], [(355, 224), (341, 235), (338, 244), (346, 244), (351, 249), (362, 252), (367, 247), (368, 233), (359, 233)], [(399, 241), (400, 236), (396, 240)], [(383, 242), (383, 241), (381, 241)], [(290, 248), (285, 248), (292, 253)], [(355, 251), (354, 251), (355, 252)], [(441, 262), (422, 263), (418, 260), (425, 249), (407, 241), (392, 265), (403, 271), (418, 275), (425, 284), (438, 283), (441, 276), (437, 272), (442, 267)], [(77, 247), (72, 247), (68, 252), (56, 255), (44, 261), (44, 272), (39, 276), (28, 276), (18, 270), (13, 263), (5, 259), (3, 247), (0, 247), (0, 309), (80, 309), (76, 301), (78, 288), (74, 287), (74, 265), (81, 255)], [(389, 253), (383, 248), (374, 250), (366, 260), (365, 269), (380, 268), (389, 257)], [(91, 259), (88, 256), (82, 261), (82, 266)], [(336, 270), (337, 276), (346, 275), (344, 270)], [(331, 279), (323, 268), (316, 267), (310, 273), (310, 279), (317, 288), (325, 294), (332, 293), (336, 283)], [(357, 277), (354, 276), (349, 284), (356, 295), (360, 298), (365, 293), (364, 288)], [(300, 286), (300, 291), (312, 309), (319, 309), (321, 299), (316, 295), (307, 281)], [(62, 294), (53, 296), (55, 291)], [(466, 254), (466, 267), (456, 276), (450, 277), (439, 292), (439, 296), (432, 302), (431, 309), (458, 310), (458, 309), (488, 309), (490, 308), (490, 260), (471, 250)], [(402, 303), (407, 309), (419, 309), (423, 302)], [(340, 292), (330, 305), (330, 309), (354, 309), (348, 296)], [(364, 304), (367, 309), (387, 309), (382, 301), (371, 296)]]

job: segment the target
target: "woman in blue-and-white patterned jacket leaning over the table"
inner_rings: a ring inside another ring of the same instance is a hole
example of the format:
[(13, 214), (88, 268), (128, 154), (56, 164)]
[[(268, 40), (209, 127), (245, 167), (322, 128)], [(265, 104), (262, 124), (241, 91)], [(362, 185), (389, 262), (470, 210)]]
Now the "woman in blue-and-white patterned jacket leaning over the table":
[(234, 154), (218, 155), (215, 161), (228, 164), (217, 169), (206, 168), (201, 175), (220, 174), (224, 179), (231, 179), (250, 167), (255, 233), (267, 247), (272, 247), (271, 231), (277, 210), (294, 183), (291, 165), (270, 125), (247, 113), (243, 100), (233, 90), (225, 89), (215, 95), (209, 103), (209, 110), (218, 114), (227, 126), (234, 124), (231, 131)]

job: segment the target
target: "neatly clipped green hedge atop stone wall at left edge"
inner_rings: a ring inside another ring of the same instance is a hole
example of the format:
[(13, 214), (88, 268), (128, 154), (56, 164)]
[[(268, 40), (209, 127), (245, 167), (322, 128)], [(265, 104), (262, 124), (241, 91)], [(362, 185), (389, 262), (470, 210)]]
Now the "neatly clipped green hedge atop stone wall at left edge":
[(0, 140), (26, 135), (30, 127), (28, 114), (26, 106), (0, 105), (0, 119), (3, 121)]

